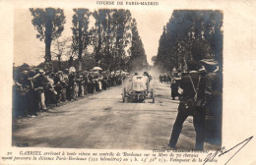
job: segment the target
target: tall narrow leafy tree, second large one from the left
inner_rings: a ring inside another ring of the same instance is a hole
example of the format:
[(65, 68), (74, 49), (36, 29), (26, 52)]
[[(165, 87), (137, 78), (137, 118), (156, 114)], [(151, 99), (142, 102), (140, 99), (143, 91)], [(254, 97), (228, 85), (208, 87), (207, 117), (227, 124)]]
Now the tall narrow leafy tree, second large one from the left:
[(73, 9), (73, 52), (78, 52), (79, 71), (82, 70), (82, 54), (90, 43), (89, 17), (91, 13), (88, 9)]

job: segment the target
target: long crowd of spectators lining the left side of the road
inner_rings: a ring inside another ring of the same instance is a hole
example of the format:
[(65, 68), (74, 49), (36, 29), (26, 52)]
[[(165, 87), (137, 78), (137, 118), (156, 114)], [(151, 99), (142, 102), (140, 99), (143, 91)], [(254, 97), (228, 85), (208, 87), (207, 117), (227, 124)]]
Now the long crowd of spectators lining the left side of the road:
[(125, 75), (109, 72), (76, 72), (74, 67), (64, 71), (14, 70), (14, 116), (37, 116), (50, 104), (76, 100), (110, 86), (121, 84)]

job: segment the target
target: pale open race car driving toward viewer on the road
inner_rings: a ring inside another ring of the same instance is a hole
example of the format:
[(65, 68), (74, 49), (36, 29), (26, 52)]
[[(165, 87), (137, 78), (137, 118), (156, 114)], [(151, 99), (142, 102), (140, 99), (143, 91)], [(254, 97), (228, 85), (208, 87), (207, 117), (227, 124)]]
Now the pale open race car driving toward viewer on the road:
[(152, 99), (155, 103), (154, 85), (147, 76), (133, 76), (123, 83), (122, 100), (126, 98), (131, 101), (143, 102), (145, 99)]

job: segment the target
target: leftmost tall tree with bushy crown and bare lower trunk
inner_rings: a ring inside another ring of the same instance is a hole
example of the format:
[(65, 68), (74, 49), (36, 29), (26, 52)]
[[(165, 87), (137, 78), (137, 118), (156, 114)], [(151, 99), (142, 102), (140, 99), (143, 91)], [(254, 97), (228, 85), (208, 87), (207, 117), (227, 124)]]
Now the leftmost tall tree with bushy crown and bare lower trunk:
[(65, 16), (62, 9), (31, 8), (32, 25), (37, 30), (36, 38), (45, 43), (45, 62), (51, 62), (51, 42), (58, 38), (63, 29)]

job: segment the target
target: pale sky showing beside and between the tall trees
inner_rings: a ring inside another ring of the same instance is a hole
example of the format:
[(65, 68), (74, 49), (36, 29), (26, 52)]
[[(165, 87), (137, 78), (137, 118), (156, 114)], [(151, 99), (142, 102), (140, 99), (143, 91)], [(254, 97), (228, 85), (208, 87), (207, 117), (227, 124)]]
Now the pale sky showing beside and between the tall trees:
[[(165, 9), (165, 8), (164, 8)], [(94, 11), (94, 9), (91, 9)], [(158, 10), (156, 7), (147, 7), (144, 12), (140, 8), (130, 8), (132, 17), (137, 21), (137, 27), (144, 44), (147, 59), (158, 53), (159, 39), (162, 27), (171, 17), (172, 10)], [(72, 36), (72, 8), (64, 8), (66, 24), (61, 37)], [(37, 65), (44, 61), (44, 42), (35, 37), (36, 30), (32, 26), (32, 15), (29, 8), (15, 10), (14, 16), (14, 63), (20, 66), (23, 63)], [(92, 25), (91, 25), (92, 26)], [(60, 37), (60, 39), (61, 39)]]

